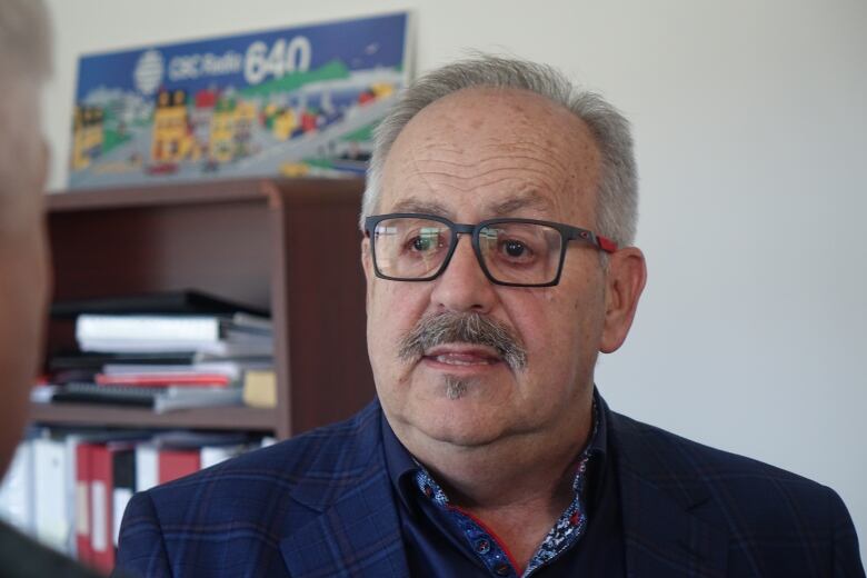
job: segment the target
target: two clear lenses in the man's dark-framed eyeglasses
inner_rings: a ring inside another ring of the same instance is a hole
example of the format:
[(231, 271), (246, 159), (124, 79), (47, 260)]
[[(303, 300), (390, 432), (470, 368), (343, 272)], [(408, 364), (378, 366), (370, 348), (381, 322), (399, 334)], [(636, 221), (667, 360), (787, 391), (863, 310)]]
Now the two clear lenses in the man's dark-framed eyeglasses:
[[(377, 267), (387, 277), (435, 276), (455, 236), (439, 221), (395, 218), (373, 231)], [(557, 229), (527, 222), (499, 222), (479, 230), (479, 253), (489, 275), (501, 282), (540, 285), (557, 277), (562, 237)]]

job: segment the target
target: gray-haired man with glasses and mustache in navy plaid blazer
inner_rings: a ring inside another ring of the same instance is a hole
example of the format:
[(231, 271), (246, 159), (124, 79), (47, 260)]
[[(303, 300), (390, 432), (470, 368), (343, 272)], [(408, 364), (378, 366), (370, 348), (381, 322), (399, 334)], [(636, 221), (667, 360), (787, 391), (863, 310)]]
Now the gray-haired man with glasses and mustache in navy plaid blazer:
[[(403, 92), (362, 208), (378, 400), (133, 498), (146, 576), (863, 576), (828, 488), (611, 412), (644, 288), (628, 123), (548, 67)], [(347, 387), (351, 387), (348, 383)]]

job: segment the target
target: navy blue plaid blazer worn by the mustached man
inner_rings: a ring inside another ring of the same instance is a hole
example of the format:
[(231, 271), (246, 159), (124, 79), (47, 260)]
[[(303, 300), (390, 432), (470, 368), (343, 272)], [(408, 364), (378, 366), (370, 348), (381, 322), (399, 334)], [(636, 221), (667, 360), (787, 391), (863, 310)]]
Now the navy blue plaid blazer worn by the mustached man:
[[(634, 577), (863, 577), (829, 488), (608, 412)], [(133, 576), (409, 576), (381, 409), (137, 494), (118, 568)]]

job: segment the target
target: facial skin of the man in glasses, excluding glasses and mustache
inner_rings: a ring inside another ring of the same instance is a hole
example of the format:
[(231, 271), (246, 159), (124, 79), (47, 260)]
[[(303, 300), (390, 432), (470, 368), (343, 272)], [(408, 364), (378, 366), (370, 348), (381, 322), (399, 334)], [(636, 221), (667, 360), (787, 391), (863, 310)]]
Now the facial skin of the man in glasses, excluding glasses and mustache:
[[(377, 213), (425, 212), (466, 223), (521, 217), (592, 230), (599, 165), (589, 130), (566, 109), (524, 91), (465, 90), (423, 109), (400, 133)], [(562, 431), (587, 405), (606, 330), (606, 272), (592, 247), (570, 243), (559, 285), (542, 288), (492, 285), (467, 236), (432, 281), (378, 279), (367, 239), (362, 251), (370, 362), (383, 410), (402, 438), (475, 447)], [(422, 317), (444, 312), (499, 323), (526, 349), (526, 366), (509, 367), (466, 342), (401, 359), (407, 333)], [(456, 380), (466, 385), (459, 396), (448, 387)]]

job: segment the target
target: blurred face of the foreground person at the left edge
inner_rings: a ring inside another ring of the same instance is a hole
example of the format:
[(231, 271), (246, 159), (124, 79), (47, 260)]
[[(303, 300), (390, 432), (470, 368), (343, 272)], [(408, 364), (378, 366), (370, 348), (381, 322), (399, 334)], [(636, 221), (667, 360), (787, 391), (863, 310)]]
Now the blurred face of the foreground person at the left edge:
[[(49, 292), (42, 213), (47, 163), (46, 149), (33, 134), (39, 126), (34, 100), (29, 93), (17, 101), (20, 107), (0, 110), (0, 476), (28, 419)], [(4, 116), (12, 113), (32, 122)]]

